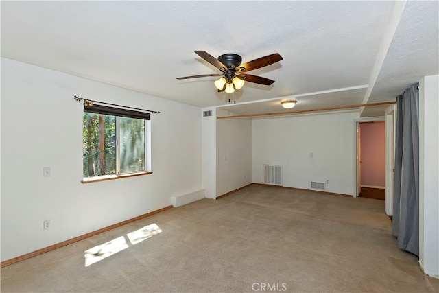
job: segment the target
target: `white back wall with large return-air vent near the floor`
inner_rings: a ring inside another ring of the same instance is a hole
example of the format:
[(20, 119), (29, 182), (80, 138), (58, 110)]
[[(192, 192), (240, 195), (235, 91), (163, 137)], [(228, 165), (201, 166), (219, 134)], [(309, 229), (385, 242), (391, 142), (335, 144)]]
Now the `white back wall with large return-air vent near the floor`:
[[(253, 120), (253, 182), (263, 183), (263, 164), (284, 166), (284, 186), (353, 195), (355, 123), (358, 111)], [(312, 153), (312, 158), (311, 158)]]

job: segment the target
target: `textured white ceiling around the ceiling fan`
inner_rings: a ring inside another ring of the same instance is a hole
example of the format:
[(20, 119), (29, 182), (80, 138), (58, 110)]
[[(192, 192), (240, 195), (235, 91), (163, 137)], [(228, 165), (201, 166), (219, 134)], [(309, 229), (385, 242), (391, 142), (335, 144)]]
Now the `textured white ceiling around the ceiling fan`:
[[(438, 1), (397, 2), (1, 1), (1, 55), (200, 107), (231, 98), (236, 113), (298, 95), (309, 108), (381, 102), (439, 73)], [(272, 86), (246, 82), (228, 95), (215, 78), (176, 80), (219, 73), (194, 50), (283, 60), (250, 72)]]

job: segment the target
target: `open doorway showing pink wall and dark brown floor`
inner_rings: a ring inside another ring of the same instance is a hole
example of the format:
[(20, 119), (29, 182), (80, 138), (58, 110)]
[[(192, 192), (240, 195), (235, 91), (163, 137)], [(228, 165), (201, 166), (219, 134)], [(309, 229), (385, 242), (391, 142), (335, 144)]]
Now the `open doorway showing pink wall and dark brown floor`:
[(385, 200), (385, 122), (359, 122), (359, 197)]

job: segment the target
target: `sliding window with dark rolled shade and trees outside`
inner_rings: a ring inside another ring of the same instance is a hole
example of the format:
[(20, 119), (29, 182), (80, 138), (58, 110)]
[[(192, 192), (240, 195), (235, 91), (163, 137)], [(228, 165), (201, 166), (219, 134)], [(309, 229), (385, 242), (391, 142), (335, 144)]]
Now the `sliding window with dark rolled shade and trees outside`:
[(84, 104), (84, 181), (149, 172), (149, 126), (149, 113)]

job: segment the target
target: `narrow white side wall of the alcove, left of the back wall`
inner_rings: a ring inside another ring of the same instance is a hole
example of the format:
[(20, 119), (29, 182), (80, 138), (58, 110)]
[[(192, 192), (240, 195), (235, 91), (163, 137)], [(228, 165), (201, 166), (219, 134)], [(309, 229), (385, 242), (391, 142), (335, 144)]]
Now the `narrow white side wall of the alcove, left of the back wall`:
[[(217, 109), (218, 116), (227, 115)], [(252, 183), (252, 121), (217, 119), (216, 194)]]

